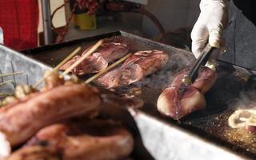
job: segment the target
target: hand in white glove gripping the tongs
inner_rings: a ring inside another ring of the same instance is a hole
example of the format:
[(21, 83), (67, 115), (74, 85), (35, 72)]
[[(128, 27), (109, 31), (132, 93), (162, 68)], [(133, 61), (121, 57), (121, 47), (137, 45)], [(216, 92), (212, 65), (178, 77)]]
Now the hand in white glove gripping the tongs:
[(210, 46), (221, 46), (222, 30), (228, 20), (226, 0), (201, 0), (200, 10), (198, 21), (191, 33), (192, 52), (196, 58), (207, 42)]

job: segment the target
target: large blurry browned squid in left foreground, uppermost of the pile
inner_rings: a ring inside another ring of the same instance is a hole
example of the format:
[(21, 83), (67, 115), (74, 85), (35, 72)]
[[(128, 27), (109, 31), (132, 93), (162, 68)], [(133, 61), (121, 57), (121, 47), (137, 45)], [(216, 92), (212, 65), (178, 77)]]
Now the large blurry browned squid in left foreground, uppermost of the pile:
[(6, 135), (10, 146), (17, 146), (43, 126), (81, 114), (98, 112), (100, 104), (100, 95), (94, 87), (58, 86), (2, 107), (0, 132)]

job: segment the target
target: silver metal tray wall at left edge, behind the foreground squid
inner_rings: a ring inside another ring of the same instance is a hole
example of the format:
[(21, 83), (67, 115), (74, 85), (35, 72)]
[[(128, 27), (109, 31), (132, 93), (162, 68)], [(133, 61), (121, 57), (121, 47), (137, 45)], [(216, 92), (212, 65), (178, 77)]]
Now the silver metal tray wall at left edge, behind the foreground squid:
[(42, 78), (44, 70), (49, 70), (41, 62), (28, 58), (15, 50), (11, 50), (0, 44), (0, 74), (10, 74), (22, 72), (22, 74), (0, 78), (0, 82), (12, 81), (5, 86), (1, 86), (0, 91), (10, 94), (16, 84), (34, 84)]

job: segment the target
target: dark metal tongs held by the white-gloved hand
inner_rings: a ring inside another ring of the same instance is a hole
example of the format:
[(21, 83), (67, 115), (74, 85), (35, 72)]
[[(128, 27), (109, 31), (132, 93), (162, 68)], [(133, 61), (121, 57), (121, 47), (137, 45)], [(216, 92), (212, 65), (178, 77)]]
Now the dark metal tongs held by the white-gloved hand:
[(214, 50), (217, 48), (210, 46), (208, 43), (204, 50), (202, 50), (202, 54), (197, 59), (196, 62), (194, 62), (193, 66), (191, 66), (189, 72), (185, 74), (184, 78), (182, 78), (182, 86), (188, 86), (192, 84), (196, 78), (198, 77), (198, 70), (201, 66), (205, 66), (206, 62), (210, 59), (211, 55), (213, 54)]

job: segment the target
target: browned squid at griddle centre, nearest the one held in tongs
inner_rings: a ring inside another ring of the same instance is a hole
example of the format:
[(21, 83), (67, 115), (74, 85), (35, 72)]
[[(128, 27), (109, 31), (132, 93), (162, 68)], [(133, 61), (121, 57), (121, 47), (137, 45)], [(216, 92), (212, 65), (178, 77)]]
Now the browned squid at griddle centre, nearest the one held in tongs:
[(159, 50), (139, 51), (127, 58), (120, 68), (102, 75), (97, 82), (106, 88), (130, 85), (160, 70), (168, 58), (168, 54)]

